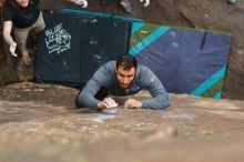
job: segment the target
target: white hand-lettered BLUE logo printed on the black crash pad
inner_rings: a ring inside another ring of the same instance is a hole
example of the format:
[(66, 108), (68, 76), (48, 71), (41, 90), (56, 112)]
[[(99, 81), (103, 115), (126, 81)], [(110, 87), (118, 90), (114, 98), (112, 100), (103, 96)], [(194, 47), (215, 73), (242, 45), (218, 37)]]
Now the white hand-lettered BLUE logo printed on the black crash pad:
[(60, 54), (70, 49), (71, 34), (62, 28), (62, 23), (45, 31), (45, 45), (49, 53)]

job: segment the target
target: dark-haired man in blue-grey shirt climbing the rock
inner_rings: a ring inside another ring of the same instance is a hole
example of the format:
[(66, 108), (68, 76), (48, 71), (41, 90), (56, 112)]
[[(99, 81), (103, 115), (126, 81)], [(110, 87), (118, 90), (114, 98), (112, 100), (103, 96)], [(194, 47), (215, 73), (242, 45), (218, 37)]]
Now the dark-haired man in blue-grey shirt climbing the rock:
[(112, 95), (132, 95), (141, 90), (148, 90), (152, 99), (128, 99), (123, 105), (126, 109), (165, 109), (170, 105), (169, 95), (159, 78), (145, 65), (138, 64), (134, 57), (122, 54), (116, 61), (109, 61), (102, 65), (79, 92), (75, 99), (78, 108), (104, 110), (118, 107), (108, 98)]

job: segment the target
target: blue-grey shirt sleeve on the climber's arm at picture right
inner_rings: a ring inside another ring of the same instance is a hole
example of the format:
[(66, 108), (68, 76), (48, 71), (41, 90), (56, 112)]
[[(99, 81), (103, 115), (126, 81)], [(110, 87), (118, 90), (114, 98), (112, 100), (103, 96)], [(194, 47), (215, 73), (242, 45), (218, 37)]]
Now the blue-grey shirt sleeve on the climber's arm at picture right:
[(170, 107), (167, 92), (165, 91), (159, 78), (150, 69), (146, 69), (144, 72), (142, 84), (152, 95), (152, 99), (141, 101), (142, 108), (157, 110)]

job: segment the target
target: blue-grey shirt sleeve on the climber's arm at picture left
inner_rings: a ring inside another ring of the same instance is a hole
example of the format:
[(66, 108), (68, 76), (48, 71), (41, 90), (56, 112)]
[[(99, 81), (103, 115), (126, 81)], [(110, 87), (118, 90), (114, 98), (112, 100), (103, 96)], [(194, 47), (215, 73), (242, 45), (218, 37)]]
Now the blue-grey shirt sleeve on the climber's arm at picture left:
[(99, 90), (108, 84), (109, 74), (104, 67), (101, 67), (87, 83), (87, 85), (79, 92), (75, 99), (75, 105), (78, 108), (85, 107), (96, 110), (100, 100), (95, 99), (95, 94)]

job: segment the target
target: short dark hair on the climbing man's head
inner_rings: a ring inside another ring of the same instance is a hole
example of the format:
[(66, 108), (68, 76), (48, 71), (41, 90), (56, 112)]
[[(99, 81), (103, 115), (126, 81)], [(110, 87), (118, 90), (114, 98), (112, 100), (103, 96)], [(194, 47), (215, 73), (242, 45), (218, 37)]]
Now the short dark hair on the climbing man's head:
[(130, 70), (133, 67), (136, 69), (138, 61), (136, 61), (135, 57), (128, 54), (128, 53), (123, 53), (116, 59), (116, 69), (120, 65), (122, 65), (124, 68), (124, 70)]

